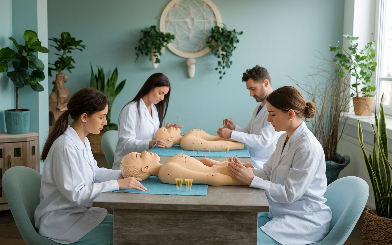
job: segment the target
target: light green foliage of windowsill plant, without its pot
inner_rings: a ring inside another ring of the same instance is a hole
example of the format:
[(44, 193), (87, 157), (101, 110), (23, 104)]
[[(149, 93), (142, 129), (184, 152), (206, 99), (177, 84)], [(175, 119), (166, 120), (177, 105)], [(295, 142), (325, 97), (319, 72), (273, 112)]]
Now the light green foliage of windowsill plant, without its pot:
[[(348, 53), (343, 46), (329, 45), (331, 52), (336, 52), (334, 62), (341, 67), (341, 71), (336, 71), (340, 78), (345, 76), (345, 71), (351, 73), (355, 77), (355, 83), (351, 86), (355, 93), (351, 93), (351, 97), (374, 97), (376, 93), (376, 87), (372, 79), (373, 72), (376, 71), (377, 62), (374, 61), (376, 57), (376, 42), (372, 41), (365, 45), (363, 49), (358, 49), (358, 43), (355, 40), (358, 37), (343, 35), (348, 41), (350, 46), (348, 49), (351, 53)], [(360, 91), (358, 91), (358, 85), (365, 85)]]

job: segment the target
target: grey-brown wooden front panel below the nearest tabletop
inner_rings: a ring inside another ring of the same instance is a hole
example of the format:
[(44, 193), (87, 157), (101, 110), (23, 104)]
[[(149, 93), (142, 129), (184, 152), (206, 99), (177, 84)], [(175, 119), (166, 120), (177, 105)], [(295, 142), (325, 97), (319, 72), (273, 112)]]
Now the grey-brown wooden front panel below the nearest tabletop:
[(256, 244), (257, 212), (114, 209), (114, 245)]

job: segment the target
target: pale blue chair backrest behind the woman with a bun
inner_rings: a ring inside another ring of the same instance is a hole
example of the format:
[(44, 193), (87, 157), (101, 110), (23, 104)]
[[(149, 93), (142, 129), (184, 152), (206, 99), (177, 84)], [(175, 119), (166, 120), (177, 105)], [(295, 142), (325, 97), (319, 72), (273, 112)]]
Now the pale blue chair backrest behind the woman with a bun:
[(328, 235), (314, 245), (343, 245), (365, 209), (369, 186), (359, 177), (347, 176), (330, 183), (324, 197), (331, 208), (332, 220)]

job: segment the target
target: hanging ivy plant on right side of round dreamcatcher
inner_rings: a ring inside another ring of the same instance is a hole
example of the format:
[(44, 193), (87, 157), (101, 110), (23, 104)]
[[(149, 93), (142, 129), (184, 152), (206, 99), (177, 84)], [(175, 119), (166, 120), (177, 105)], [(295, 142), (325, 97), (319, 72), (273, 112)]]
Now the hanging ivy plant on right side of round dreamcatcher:
[(211, 36), (207, 39), (207, 44), (212, 54), (220, 59), (218, 61), (218, 67), (215, 68), (215, 70), (219, 69), (219, 74), (221, 74), (219, 79), (222, 79), (223, 75), (226, 74), (225, 69), (230, 68), (230, 65), (233, 64), (230, 58), (234, 49), (236, 49), (234, 44), (240, 42), (237, 35), (241, 35), (242, 33), (242, 31), (236, 32), (236, 29), (229, 31), (226, 25), (211, 28)]

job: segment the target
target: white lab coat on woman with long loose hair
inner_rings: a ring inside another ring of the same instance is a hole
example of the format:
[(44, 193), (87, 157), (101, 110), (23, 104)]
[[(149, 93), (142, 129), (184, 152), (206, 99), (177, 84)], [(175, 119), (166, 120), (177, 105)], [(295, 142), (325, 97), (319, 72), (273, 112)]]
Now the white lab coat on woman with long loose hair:
[(150, 140), (159, 129), (158, 111), (151, 104), (150, 115), (143, 99), (140, 102), (140, 122), (136, 101), (125, 105), (118, 117), (118, 142), (114, 152), (113, 169), (120, 170), (122, 158), (130, 152), (147, 151)]

